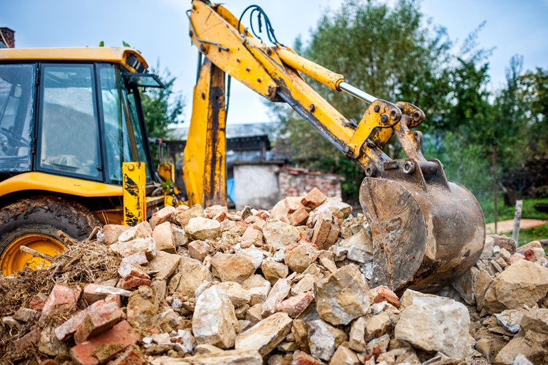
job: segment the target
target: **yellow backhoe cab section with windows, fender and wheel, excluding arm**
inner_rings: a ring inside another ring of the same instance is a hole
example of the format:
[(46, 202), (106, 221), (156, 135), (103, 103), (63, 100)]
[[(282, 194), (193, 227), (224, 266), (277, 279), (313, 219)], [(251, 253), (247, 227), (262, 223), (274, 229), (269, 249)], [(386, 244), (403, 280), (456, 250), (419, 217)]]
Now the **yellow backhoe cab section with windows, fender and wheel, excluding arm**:
[(131, 207), (143, 214), (163, 206), (140, 86), (162, 84), (133, 49), (0, 49), (1, 274), (47, 264), (65, 247), (59, 231), (84, 240), (135, 223), (124, 192), (148, 192)]

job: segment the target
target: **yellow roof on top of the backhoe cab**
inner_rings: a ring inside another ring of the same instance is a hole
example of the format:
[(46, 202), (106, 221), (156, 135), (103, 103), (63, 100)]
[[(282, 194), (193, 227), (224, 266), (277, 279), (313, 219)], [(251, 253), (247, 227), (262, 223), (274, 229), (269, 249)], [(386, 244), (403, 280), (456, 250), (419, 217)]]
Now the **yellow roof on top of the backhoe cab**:
[(114, 62), (129, 70), (136, 69), (127, 59), (134, 56), (145, 68), (147, 61), (136, 50), (128, 47), (66, 47), (66, 48), (8, 48), (0, 49), (2, 61), (90, 61)]

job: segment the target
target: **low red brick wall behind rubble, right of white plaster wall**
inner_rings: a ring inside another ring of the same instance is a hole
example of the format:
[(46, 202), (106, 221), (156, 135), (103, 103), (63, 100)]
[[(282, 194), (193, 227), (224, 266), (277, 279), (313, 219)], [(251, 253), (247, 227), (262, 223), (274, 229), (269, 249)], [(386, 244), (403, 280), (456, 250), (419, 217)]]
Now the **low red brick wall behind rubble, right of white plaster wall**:
[(340, 197), (340, 181), (344, 178), (335, 174), (323, 174), (304, 168), (279, 168), (279, 196), (301, 197), (312, 188), (319, 188), (327, 197)]

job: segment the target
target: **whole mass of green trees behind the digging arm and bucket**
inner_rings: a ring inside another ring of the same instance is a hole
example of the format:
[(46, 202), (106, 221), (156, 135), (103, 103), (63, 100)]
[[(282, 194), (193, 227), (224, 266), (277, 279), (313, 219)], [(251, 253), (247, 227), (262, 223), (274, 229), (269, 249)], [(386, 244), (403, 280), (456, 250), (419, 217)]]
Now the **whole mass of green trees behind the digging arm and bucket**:
[[(493, 175), (505, 189), (525, 195), (548, 185), (548, 70), (523, 71), (523, 58), (515, 55), (506, 69), (506, 85), (491, 90), (488, 58), (493, 49), (477, 43), (484, 23), (454, 53), (445, 29), (425, 21), (419, 5), (414, 0), (399, 0), (393, 7), (343, 1), (337, 10), (325, 12), (308, 44), (297, 38), (295, 50), (371, 95), (422, 108), (427, 115), (419, 127), (425, 156), (441, 160), (447, 177), (469, 188), (480, 203), (490, 201)], [(366, 105), (307, 81), (347, 118), (361, 119)], [(295, 148), (293, 162), (344, 175), (343, 195), (356, 201), (363, 173), (297, 113), (280, 105), (271, 110)], [(385, 152), (402, 158), (394, 142)]]

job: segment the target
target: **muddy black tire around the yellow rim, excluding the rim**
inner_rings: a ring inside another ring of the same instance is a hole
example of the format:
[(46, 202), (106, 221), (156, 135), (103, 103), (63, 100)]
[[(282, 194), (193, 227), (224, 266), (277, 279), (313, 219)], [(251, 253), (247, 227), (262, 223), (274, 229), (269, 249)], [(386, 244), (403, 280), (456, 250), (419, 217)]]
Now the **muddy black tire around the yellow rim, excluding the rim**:
[(10, 242), (23, 233), (45, 234), (61, 240), (61, 230), (75, 240), (84, 240), (101, 225), (84, 205), (60, 197), (21, 199), (0, 210), (0, 255)]

